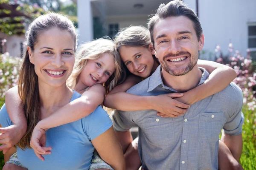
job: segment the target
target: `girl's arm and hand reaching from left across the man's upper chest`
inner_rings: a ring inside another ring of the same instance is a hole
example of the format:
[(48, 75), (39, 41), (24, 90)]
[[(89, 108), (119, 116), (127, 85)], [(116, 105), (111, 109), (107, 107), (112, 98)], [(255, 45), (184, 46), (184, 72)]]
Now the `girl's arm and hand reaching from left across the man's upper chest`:
[[(141, 78), (140, 78), (141, 79)], [(161, 113), (179, 116), (185, 113), (189, 105), (176, 101), (175, 97), (183, 94), (163, 94), (158, 96), (137, 96), (128, 94), (129, 88), (137, 84), (134, 76), (128, 77), (121, 85), (116, 86), (105, 98), (104, 105), (107, 108), (113, 108), (120, 111), (140, 111), (154, 109)]]

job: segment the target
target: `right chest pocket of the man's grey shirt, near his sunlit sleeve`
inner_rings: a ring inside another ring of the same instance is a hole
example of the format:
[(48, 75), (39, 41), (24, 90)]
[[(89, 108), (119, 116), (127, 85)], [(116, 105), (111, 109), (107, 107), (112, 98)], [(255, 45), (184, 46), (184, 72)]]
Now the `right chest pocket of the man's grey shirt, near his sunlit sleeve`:
[(223, 127), (223, 112), (201, 112), (199, 118), (198, 141), (217, 142)]

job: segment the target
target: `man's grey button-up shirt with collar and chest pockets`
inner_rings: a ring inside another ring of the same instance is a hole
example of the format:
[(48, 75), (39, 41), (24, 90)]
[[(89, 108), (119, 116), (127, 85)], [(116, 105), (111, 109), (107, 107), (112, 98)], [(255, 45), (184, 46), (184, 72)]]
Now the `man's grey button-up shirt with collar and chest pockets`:
[[(163, 85), (160, 66), (151, 77), (127, 92), (156, 96), (177, 92)], [(203, 72), (198, 85), (209, 73)], [(115, 111), (115, 130), (139, 126), (138, 150), (145, 170), (218, 170), (218, 139), (221, 129), (230, 135), (242, 132), (243, 94), (230, 83), (223, 91), (194, 103), (183, 116), (162, 118), (157, 111)]]

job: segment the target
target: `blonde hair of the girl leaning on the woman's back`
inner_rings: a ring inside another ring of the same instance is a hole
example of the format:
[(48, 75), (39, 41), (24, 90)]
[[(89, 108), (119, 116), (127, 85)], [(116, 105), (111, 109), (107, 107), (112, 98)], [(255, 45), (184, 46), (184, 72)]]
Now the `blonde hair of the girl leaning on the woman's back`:
[(114, 56), (115, 72), (109, 77), (109, 79), (103, 84), (106, 89), (106, 93), (110, 92), (119, 81), (121, 77), (121, 58), (116, 51), (116, 45), (112, 40), (100, 38), (91, 42), (86, 42), (80, 45), (80, 48), (76, 52), (76, 63), (70, 78), (67, 81), (67, 85), (74, 88), (78, 82), (79, 75), (84, 69), (88, 59), (99, 59), (105, 53)]

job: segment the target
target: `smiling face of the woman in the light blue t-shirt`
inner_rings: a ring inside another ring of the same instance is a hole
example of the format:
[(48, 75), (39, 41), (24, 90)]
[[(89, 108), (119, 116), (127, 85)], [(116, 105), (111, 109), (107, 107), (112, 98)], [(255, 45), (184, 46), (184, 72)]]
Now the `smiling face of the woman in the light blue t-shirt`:
[(75, 42), (72, 35), (58, 28), (43, 31), (34, 51), (28, 47), (29, 59), (35, 65), (38, 83), (58, 87), (66, 84), (75, 63)]

